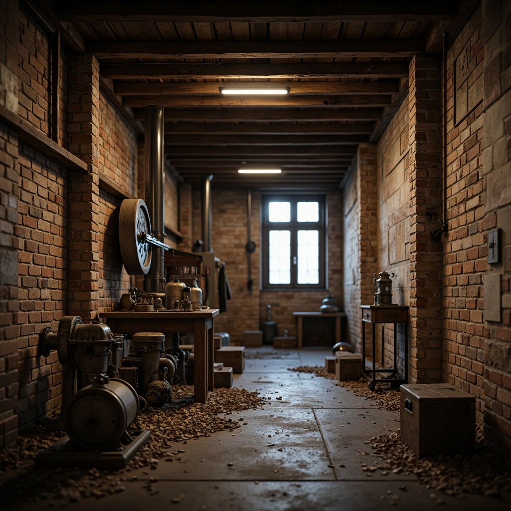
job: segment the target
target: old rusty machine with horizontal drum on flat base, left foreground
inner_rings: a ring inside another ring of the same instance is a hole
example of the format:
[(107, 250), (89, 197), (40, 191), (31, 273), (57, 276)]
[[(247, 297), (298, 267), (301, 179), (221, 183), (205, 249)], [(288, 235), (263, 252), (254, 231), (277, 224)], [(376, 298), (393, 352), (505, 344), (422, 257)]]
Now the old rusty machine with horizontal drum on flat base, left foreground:
[[(39, 335), (45, 356), (57, 350), (62, 364), (62, 438), (36, 457), (44, 466), (123, 468), (147, 443), (149, 431), (128, 433), (141, 400), (118, 373), (126, 350), (123, 336), (106, 324), (83, 324), (79, 316), (64, 316), (57, 333)], [(133, 435), (133, 436), (132, 436)]]

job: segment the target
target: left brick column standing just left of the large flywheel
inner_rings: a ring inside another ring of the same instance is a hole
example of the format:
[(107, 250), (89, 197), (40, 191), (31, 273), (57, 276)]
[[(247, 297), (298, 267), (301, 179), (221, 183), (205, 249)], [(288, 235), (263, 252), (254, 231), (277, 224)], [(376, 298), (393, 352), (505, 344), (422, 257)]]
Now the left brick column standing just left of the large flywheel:
[(69, 62), (67, 149), (87, 162), (69, 171), (67, 313), (85, 321), (99, 308), (99, 63), (91, 55)]

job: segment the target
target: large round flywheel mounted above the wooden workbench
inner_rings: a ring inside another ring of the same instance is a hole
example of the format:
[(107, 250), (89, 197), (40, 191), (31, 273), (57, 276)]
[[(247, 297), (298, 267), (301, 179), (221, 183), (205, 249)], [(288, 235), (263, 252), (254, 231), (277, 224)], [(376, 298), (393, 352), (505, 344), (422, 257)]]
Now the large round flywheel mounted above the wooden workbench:
[(147, 275), (151, 266), (151, 220), (142, 199), (125, 199), (119, 211), (119, 244), (126, 271), (130, 275)]

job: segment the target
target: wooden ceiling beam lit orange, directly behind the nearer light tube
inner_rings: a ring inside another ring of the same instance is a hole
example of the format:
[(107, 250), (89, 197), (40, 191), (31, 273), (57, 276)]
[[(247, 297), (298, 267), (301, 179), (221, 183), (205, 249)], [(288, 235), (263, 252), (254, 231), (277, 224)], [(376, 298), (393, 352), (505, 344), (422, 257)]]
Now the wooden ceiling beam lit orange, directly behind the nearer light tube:
[[(398, 80), (374, 82), (244, 82), (244, 86), (290, 87), (290, 94), (398, 94)], [(183, 94), (219, 94), (220, 86), (240, 86), (239, 82), (114, 82), (119, 96), (172, 96)]]

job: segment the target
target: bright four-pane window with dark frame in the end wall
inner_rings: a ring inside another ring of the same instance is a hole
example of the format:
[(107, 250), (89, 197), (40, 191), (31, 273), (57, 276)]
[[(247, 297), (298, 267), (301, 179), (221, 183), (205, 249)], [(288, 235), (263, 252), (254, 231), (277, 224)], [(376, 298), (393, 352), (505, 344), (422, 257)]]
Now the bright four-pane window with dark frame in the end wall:
[(326, 198), (262, 196), (263, 289), (326, 289)]

